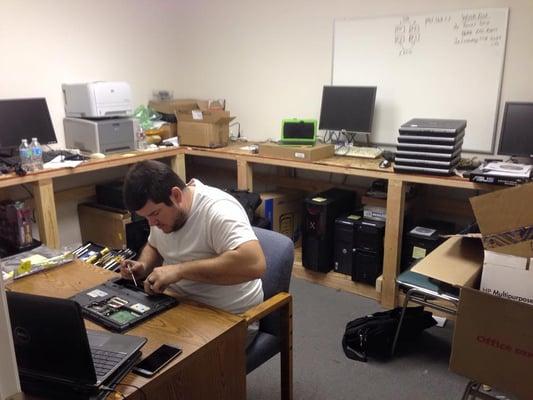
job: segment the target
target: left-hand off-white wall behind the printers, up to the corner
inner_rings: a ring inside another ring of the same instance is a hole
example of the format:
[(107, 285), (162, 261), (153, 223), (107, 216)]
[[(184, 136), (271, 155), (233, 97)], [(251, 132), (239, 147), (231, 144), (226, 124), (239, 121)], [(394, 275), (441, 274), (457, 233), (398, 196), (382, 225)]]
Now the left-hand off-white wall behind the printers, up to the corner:
[(135, 105), (176, 85), (179, 3), (0, 1), (0, 97), (45, 96), (63, 143), (62, 83), (125, 80)]

